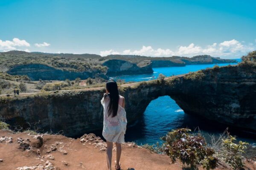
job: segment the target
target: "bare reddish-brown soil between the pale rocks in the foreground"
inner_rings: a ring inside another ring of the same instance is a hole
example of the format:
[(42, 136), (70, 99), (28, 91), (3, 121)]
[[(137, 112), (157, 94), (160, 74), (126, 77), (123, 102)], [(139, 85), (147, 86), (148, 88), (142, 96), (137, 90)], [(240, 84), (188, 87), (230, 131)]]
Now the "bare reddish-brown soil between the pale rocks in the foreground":
[[(1, 136), (12, 136), (13, 142), (5, 144), (0, 142), (0, 170), (15, 170), (17, 167), (34, 166), (36, 164), (44, 164), (49, 160), (57, 170), (107, 170), (106, 153), (95, 148), (93, 142), (81, 143), (80, 139), (71, 139), (61, 135), (44, 135), (44, 144), (40, 147), (40, 156), (36, 153), (19, 149), (20, 144), (17, 138), (29, 138), (31, 143), (35, 142), (33, 136), (26, 133), (12, 133), (10, 131), (0, 130)], [(62, 142), (57, 145), (57, 150), (46, 153), (49, 147), (56, 142)], [(83, 145), (84, 144), (84, 145)], [(47, 148), (45, 148), (47, 146)], [(64, 155), (58, 151), (59, 147), (63, 147), (68, 153)], [(54, 156), (54, 160), (43, 158), (49, 154)], [(115, 160), (115, 151), (113, 150), (113, 162)], [(62, 161), (68, 162), (69, 166)], [(247, 170), (256, 170), (256, 164), (246, 163)], [(145, 148), (134, 147), (131, 144), (122, 146), (121, 156), (122, 170), (181, 170), (180, 164), (171, 164), (170, 158), (166, 155), (151, 153)], [(133, 169), (132, 169), (133, 168)], [(114, 170), (114, 163), (112, 163)], [(218, 168), (220, 170), (220, 168)]]

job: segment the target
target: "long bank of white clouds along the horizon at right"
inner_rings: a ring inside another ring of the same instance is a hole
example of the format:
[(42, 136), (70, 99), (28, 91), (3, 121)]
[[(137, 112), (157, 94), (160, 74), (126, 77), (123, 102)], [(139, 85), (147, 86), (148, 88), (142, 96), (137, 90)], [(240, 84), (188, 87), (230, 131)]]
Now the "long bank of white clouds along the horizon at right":
[(248, 43), (238, 40), (228, 40), (220, 43), (213, 43), (212, 45), (207, 45), (205, 47), (195, 45), (194, 43), (188, 46), (180, 45), (175, 50), (170, 50), (169, 48), (154, 49), (151, 46), (145, 46), (139, 50), (132, 51), (131, 49), (124, 50), (122, 52), (114, 51), (113, 49), (109, 51), (101, 51), (100, 55), (106, 56), (109, 54), (125, 54), (125, 55), (144, 55), (153, 57), (170, 57), (174, 55), (192, 57), (195, 55), (208, 54), (214, 57), (224, 57), (224, 58), (236, 58), (247, 54), (249, 51), (256, 50), (256, 44)]

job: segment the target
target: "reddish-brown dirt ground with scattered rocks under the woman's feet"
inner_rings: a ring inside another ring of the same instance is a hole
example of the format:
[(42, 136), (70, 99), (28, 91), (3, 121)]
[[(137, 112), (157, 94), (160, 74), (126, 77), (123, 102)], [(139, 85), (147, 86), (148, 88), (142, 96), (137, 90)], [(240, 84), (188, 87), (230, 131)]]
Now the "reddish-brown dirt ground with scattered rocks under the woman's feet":
[[(107, 170), (105, 150), (105, 142), (93, 134), (72, 139), (61, 135), (37, 136), (0, 130), (0, 170)], [(115, 157), (113, 148), (113, 170)], [(121, 168), (182, 169), (180, 163), (172, 164), (168, 156), (151, 153), (133, 143), (122, 145)], [(245, 169), (256, 170), (256, 164), (247, 162)]]

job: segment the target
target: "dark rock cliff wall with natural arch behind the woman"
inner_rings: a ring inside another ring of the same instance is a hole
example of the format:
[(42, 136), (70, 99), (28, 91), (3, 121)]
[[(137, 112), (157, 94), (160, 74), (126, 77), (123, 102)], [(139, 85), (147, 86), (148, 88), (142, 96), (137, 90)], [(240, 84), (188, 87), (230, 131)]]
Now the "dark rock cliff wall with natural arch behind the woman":
[[(121, 87), (128, 123), (140, 117), (151, 100), (170, 96), (185, 113), (227, 125), (256, 130), (256, 67), (215, 67), (164, 82), (153, 80)], [(102, 129), (100, 100), (104, 89), (1, 99), (0, 116), (11, 125), (63, 130), (67, 136)], [(138, 97), (140, 96), (140, 97)]]

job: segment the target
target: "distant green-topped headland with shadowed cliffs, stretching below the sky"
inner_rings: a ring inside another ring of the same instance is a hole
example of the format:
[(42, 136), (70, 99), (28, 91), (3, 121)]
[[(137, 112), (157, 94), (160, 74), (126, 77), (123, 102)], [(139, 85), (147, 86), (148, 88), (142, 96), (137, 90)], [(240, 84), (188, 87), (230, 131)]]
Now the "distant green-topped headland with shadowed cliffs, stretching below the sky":
[(154, 67), (237, 62), (209, 55), (189, 57), (146, 57), (135, 55), (50, 54), (9, 51), (0, 53), (0, 71), (28, 75), (31, 80), (74, 80), (109, 76), (151, 74)]

